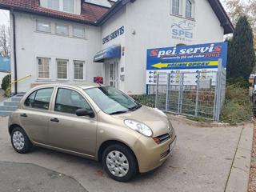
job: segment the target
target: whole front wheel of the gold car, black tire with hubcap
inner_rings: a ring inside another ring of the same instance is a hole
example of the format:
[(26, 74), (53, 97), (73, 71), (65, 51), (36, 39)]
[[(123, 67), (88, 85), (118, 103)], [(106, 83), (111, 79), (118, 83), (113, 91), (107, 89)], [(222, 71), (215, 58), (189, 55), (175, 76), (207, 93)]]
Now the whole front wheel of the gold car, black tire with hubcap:
[(106, 147), (102, 155), (103, 169), (118, 182), (129, 182), (138, 172), (134, 153), (121, 144)]

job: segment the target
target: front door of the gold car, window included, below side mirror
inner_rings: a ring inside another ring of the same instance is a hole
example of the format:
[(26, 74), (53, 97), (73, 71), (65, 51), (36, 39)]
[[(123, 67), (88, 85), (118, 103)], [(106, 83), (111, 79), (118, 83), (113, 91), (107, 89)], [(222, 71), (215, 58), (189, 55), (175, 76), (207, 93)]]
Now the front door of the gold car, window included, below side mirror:
[(92, 110), (77, 90), (58, 88), (50, 117), (50, 145), (89, 156), (95, 155), (98, 119), (95, 115), (78, 117), (78, 109)]

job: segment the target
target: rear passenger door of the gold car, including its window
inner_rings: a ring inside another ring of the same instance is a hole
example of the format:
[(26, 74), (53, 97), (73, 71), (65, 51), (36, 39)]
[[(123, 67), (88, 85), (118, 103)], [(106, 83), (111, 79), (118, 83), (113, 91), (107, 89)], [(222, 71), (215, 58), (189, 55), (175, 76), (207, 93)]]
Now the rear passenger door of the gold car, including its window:
[(53, 92), (54, 87), (34, 90), (19, 110), (21, 126), (33, 142), (48, 144), (50, 100)]

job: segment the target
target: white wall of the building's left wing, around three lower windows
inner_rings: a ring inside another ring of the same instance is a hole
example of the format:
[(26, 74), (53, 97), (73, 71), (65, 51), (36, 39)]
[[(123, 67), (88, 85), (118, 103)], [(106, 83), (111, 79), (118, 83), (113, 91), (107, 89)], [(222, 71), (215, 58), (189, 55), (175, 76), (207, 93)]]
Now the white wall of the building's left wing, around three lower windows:
[[(93, 82), (93, 78), (95, 76), (102, 76), (102, 67), (99, 67), (98, 63), (95, 64), (92, 62), (94, 54), (97, 52), (97, 50), (102, 48), (102, 36), (100, 28), (86, 26), (85, 39), (66, 37), (58, 34), (44, 34), (36, 31), (35, 21), (38, 19), (38, 17), (21, 13), (15, 13), (15, 15), (18, 78), (23, 78), (29, 74), (32, 75), (31, 78), (27, 78), (18, 83), (18, 92), (29, 90), (31, 83), (34, 82), (74, 82), (74, 60), (86, 62), (84, 73), (85, 82)], [(49, 20), (49, 18), (45, 19)], [(52, 30), (54, 30), (54, 22), (62, 22), (54, 19), (50, 19), (50, 21), (52, 22)], [(65, 23), (69, 24), (70, 26), (74, 24), (71, 22)], [(10, 19), (10, 26), (12, 26), (12, 18)], [(11, 42), (13, 42), (13, 39), (11, 39)], [(38, 79), (37, 57), (51, 58), (49, 81), (42, 81)], [(69, 60), (69, 79), (67, 81), (58, 81), (57, 79), (56, 58)], [(12, 78), (14, 78), (13, 54), (11, 63)]]

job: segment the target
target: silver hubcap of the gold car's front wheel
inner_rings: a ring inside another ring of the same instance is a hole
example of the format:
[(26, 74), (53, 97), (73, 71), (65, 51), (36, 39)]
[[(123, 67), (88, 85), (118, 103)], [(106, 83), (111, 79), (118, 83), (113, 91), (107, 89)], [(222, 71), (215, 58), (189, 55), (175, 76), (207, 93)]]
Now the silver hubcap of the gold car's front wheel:
[(129, 162), (126, 155), (118, 150), (113, 150), (106, 156), (106, 166), (111, 174), (124, 177), (129, 171)]

